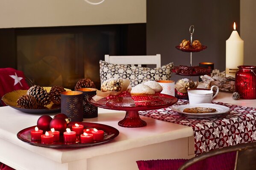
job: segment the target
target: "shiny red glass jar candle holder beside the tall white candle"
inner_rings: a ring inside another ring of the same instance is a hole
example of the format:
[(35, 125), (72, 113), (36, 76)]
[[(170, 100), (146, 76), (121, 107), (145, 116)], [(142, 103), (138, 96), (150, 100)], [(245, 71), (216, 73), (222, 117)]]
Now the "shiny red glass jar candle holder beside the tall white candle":
[(235, 91), (242, 99), (256, 99), (256, 66), (239, 65), (235, 74)]

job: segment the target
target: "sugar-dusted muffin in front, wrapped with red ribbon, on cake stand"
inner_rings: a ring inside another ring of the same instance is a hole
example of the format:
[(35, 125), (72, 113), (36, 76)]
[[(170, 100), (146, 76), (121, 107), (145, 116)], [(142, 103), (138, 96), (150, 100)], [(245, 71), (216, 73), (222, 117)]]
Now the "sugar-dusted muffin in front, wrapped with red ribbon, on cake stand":
[(155, 91), (148, 85), (138, 84), (132, 88), (131, 96), (135, 105), (150, 105), (150, 102), (153, 102)]

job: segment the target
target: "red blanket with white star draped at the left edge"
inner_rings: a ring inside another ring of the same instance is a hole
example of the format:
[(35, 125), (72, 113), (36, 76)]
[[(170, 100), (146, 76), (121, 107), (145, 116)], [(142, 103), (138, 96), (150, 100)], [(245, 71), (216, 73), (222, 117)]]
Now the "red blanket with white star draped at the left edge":
[[(0, 68), (0, 99), (11, 91), (27, 89), (29, 89), (29, 85), (26, 83), (22, 71), (15, 70), (14, 68)], [(2, 100), (0, 102), (5, 106)]]

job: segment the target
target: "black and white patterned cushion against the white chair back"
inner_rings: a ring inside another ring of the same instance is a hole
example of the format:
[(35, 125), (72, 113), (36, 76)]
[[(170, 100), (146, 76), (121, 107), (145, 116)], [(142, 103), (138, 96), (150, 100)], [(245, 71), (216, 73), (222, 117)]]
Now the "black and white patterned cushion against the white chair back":
[(109, 64), (100, 60), (100, 81), (103, 83), (110, 78), (129, 79), (132, 87), (149, 80), (171, 79), (173, 62), (160, 68), (145, 68), (134, 65)]

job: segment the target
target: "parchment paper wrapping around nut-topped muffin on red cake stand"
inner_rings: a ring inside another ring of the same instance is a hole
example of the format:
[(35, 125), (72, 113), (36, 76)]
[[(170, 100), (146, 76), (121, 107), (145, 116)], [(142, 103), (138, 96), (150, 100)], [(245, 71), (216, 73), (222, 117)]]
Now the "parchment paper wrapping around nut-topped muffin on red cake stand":
[(128, 91), (130, 92), (132, 90), (132, 86), (131, 86), (131, 82), (129, 79), (124, 80), (123, 85), (122, 85), (122, 89), (121, 91), (100, 91), (97, 90), (96, 91), (96, 95), (92, 97), (92, 99), (94, 99), (94, 101), (99, 101), (100, 99), (103, 99), (107, 96), (118, 96), (119, 94), (121, 94), (124, 91)]

